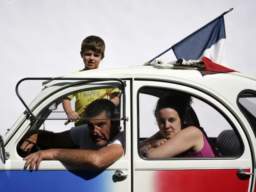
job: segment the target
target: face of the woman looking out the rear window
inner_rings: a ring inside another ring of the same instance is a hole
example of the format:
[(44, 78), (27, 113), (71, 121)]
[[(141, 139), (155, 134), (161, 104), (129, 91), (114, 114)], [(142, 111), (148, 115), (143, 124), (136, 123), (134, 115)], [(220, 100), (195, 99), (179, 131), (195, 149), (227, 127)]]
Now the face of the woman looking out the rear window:
[(181, 120), (174, 109), (161, 109), (156, 113), (156, 118), (160, 132), (166, 139), (174, 137), (181, 130)]

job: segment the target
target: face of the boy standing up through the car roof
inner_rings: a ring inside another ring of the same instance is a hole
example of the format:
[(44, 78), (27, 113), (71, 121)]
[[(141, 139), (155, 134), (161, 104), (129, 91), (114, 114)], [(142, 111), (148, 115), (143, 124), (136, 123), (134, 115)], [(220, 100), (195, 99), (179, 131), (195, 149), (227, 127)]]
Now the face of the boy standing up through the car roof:
[(85, 69), (97, 69), (101, 60), (104, 58), (104, 56), (92, 50), (85, 50), (84, 53), (80, 52), (80, 54), (84, 61)]

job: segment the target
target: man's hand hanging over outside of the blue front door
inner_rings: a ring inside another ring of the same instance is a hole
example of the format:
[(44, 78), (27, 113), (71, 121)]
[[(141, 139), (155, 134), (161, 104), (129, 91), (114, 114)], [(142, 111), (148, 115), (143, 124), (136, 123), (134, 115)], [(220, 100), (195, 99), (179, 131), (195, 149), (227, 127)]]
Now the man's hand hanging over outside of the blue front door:
[(55, 159), (55, 153), (57, 152), (57, 149), (47, 149), (43, 151), (37, 151), (36, 153), (32, 153), (23, 160), (26, 161), (24, 165), (24, 169), (27, 169), (27, 167), (30, 165), (30, 171), (33, 171), (34, 165), (36, 164), (36, 170), (39, 169), (39, 165), (42, 160), (53, 160)]

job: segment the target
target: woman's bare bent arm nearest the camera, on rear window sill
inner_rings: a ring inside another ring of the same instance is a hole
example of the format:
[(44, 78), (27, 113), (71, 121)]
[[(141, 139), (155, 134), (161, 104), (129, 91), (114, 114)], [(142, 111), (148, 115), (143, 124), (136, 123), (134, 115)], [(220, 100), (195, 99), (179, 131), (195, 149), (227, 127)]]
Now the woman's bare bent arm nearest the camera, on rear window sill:
[(146, 154), (148, 158), (171, 158), (187, 150), (197, 153), (203, 148), (204, 140), (201, 130), (194, 126), (180, 130), (174, 137), (167, 140), (164, 144), (150, 150)]

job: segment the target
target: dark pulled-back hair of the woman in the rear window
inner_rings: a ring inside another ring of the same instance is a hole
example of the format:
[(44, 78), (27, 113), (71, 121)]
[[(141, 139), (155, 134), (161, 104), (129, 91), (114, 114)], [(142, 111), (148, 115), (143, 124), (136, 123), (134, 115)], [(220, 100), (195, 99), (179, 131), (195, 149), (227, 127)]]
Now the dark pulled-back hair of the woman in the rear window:
[(172, 92), (164, 97), (159, 98), (156, 109), (155, 109), (155, 117), (156, 113), (164, 108), (171, 108), (177, 111), (180, 119), (184, 119), (186, 111), (190, 108), (192, 103), (192, 98), (188, 94), (180, 94), (176, 92)]

